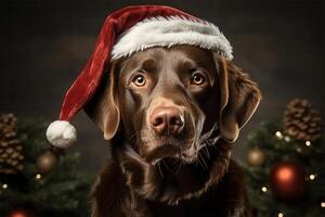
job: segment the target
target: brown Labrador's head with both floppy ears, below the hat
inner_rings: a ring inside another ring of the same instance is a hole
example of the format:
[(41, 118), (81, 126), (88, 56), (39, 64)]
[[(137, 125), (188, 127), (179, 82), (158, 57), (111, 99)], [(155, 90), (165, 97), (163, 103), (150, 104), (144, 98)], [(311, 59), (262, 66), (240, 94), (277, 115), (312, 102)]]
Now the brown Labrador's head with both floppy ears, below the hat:
[(87, 112), (112, 139), (123, 130), (147, 163), (192, 163), (210, 137), (232, 143), (260, 92), (233, 63), (193, 47), (152, 48), (114, 61)]

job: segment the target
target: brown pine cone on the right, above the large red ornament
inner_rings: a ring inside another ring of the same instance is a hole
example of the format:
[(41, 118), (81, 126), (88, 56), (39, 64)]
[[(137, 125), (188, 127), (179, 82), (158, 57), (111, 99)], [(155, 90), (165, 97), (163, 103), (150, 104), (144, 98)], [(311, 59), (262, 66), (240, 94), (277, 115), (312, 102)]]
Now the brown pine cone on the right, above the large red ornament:
[(297, 140), (313, 141), (321, 137), (322, 118), (306, 99), (294, 99), (284, 113), (284, 132)]

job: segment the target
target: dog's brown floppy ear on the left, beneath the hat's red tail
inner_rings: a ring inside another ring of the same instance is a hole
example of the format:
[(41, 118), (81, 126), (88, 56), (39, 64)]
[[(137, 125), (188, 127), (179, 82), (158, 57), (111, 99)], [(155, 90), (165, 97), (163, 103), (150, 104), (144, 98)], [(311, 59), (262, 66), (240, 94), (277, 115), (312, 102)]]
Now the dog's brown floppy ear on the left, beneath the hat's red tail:
[(106, 140), (115, 136), (120, 122), (117, 79), (115, 78), (117, 65), (117, 61), (110, 63), (99, 90), (84, 107), (89, 117), (103, 130)]

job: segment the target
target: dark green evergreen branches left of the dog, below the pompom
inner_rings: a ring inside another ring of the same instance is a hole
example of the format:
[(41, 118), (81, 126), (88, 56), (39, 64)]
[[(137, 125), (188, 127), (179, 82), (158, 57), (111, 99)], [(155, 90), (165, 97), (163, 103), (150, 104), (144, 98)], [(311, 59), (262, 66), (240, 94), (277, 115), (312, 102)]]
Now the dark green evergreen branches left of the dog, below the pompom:
[(77, 170), (78, 153), (62, 155), (48, 174), (38, 173), (37, 158), (50, 149), (44, 130), (41, 120), (18, 120), (24, 169), (15, 175), (0, 174), (0, 216), (16, 208), (31, 210), (35, 216), (90, 216), (88, 194), (93, 177)]

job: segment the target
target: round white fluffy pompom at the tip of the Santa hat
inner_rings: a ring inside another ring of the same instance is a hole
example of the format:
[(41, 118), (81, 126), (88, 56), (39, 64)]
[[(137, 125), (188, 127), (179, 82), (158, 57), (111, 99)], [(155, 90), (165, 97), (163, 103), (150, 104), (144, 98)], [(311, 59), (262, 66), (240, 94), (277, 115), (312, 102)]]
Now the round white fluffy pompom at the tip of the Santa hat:
[(47, 138), (54, 146), (66, 149), (77, 141), (77, 130), (68, 122), (55, 120), (49, 125)]

